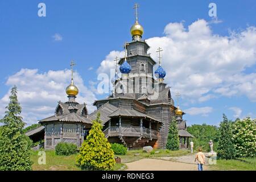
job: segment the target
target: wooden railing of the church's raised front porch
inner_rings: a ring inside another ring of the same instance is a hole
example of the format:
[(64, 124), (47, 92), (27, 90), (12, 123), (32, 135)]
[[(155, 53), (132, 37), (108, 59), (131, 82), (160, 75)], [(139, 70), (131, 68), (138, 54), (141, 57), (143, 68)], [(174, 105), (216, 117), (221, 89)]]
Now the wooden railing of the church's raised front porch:
[(158, 131), (139, 126), (111, 126), (104, 130), (106, 137), (147, 137), (158, 139)]

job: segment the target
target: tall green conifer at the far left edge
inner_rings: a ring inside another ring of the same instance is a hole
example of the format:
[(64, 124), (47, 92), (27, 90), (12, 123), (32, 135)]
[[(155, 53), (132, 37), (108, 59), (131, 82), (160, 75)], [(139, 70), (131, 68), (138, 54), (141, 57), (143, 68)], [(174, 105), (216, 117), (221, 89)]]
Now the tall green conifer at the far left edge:
[(28, 171), (32, 162), (26, 136), (22, 129), (25, 123), (20, 113), (22, 108), (17, 98), (17, 88), (11, 89), (10, 103), (6, 107), (4, 124), (0, 130), (0, 170), (1, 171)]

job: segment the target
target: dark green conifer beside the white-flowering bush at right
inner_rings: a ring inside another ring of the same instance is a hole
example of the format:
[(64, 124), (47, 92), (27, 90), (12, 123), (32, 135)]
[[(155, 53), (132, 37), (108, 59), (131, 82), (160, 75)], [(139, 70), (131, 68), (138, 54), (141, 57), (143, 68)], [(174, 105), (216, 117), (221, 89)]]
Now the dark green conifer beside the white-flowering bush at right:
[(220, 123), (217, 154), (222, 159), (233, 159), (236, 156), (232, 135), (232, 121), (229, 121), (225, 114), (223, 114), (223, 121)]

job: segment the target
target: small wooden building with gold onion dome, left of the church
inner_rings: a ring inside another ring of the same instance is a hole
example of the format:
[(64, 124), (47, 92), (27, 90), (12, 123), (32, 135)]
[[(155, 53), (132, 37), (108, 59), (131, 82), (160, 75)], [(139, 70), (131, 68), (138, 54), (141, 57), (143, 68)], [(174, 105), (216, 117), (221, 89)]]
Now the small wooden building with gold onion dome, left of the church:
[(88, 119), (86, 104), (76, 102), (79, 89), (73, 82), (73, 69), (71, 84), (67, 87), (66, 93), (69, 100), (67, 102), (59, 101), (55, 114), (39, 122), (45, 127), (45, 149), (55, 149), (59, 142), (73, 143), (80, 147), (86, 137), (86, 131), (92, 127), (92, 122)]

